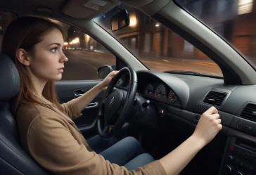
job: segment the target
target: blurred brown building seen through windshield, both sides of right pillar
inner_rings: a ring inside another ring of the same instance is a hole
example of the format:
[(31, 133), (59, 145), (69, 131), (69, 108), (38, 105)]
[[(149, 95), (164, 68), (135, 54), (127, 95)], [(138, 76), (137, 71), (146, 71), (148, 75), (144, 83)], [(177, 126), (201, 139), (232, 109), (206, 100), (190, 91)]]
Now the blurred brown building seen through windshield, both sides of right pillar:
[[(256, 4), (253, 0), (179, 0), (179, 3), (250, 60), (256, 59)], [(134, 8), (128, 11), (131, 25), (116, 33), (132, 53), (206, 58), (193, 45), (141, 11)]]

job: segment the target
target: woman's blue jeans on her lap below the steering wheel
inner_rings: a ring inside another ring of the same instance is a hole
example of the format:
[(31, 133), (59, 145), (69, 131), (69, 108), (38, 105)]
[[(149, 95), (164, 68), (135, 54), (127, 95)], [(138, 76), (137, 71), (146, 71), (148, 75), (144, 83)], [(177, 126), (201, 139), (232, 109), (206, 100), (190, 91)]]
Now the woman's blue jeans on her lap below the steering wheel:
[(96, 148), (96, 150), (94, 150), (96, 153), (97, 150), (100, 150), (99, 147), (105, 147), (106, 149), (104, 150), (103, 148), (103, 151), (98, 154), (102, 155), (105, 160), (124, 166), (128, 170), (135, 170), (138, 167), (142, 167), (143, 165), (154, 161), (154, 158), (151, 155), (143, 153), (141, 144), (134, 137), (123, 138), (121, 141), (110, 147), (108, 147), (108, 141), (103, 140), (100, 136), (89, 138), (87, 143), (92, 150)]

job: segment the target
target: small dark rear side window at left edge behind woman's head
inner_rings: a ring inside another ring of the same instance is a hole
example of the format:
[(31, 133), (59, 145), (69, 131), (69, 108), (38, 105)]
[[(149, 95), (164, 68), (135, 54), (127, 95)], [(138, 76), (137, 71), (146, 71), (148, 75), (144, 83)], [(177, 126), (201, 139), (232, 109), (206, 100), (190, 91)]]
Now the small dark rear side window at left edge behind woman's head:
[(0, 52), (2, 48), (2, 39), (3, 39), (4, 31), (6, 31), (6, 27), (15, 18), (16, 18), (16, 15), (14, 13), (0, 11)]

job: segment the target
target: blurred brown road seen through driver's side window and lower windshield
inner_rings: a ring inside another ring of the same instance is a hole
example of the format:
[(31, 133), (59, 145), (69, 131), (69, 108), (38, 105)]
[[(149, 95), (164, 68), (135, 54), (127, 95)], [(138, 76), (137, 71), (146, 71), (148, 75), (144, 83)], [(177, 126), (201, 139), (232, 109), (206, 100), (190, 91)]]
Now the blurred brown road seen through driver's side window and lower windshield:
[[(65, 50), (68, 62), (65, 63), (62, 80), (100, 79), (98, 67), (115, 65), (115, 57), (108, 53)], [(150, 70), (189, 70), (222, 76), (219, 67), (210, 59), (182, 59), (168, 57), (139, 56)]]

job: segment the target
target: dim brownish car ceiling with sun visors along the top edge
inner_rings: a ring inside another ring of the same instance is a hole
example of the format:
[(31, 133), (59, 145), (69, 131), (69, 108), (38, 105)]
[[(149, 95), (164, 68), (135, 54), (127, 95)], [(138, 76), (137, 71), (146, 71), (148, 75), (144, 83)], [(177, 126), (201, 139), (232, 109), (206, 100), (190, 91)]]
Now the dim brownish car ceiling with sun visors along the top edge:
[[(53, 18), (75, 25), (80, 30), (89, 30), (91, 21), (96, 16), (101, 15), (112, 8), (115, 8), (121, 1), (104, 0), (107, 2), (103, 8), (93, 10), (84, 6), (92, 0), (10, 0), (0, 1), (0, 11), (13, 11), (18, 15), (37, 15), (46, 18)], [(170, 0), (123, 0), (122, 3), (128, 6), (139, 8), (148, 15), (157, 13)], [(15, 5), (13, 5), (15, 4)]]

